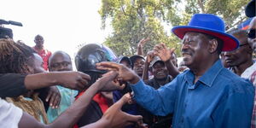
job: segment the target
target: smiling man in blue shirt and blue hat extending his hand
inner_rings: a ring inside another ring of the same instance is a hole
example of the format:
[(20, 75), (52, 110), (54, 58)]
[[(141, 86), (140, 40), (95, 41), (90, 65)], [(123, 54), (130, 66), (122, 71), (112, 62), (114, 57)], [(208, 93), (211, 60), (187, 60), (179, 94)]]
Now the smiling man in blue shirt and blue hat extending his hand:
[[(188, 26), (176, 26), (172, 32), (183, 39), (183, 61), (189, 70), (158, 90), (121, 65), (102, 62), (97, 67), (115, 70), (119, 79), (129, 81), (136, 102), (151, 113), (174, 113), (174, 128), (249, 127), (253, 84), (230, 73), (219, 60), (221, 51), (238, 47), (236, 38), (224, 32), (224, 21), (216, 15), (197, 14)], [(155, 55), (161, 49), (154, 49)]]

